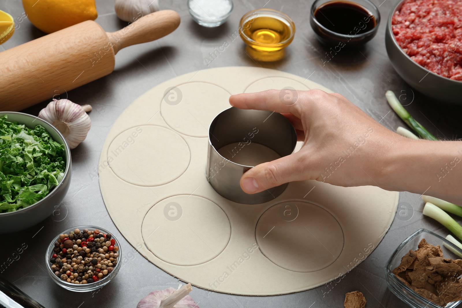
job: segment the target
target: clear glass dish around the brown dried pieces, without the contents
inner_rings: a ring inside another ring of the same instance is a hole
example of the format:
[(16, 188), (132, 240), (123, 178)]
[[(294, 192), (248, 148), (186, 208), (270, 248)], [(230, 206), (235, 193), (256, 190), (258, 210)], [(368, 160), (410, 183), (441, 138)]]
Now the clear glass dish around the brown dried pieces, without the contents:
[[(453, 243), (446, 240), (444, 237), (439, 236), (429, 230), (419, 229), (413, 234), (411, 234), (404, 242), (401, 243), (395, 252), (391, 255), (390, 259), (385, 266), (385, 274), (387, 279), (387, 285), (389, 290), (395, 294), (403, 302), (407, 303), (412, 308), (441, 308), (437, 304), (434, 304), (427, 300), (425, 297), (420, 296), (414, 290), (405, 285), (401, 280), (396, 278), (396, 276), (391, 272), (395, 269), (396, 266), (400, 265), (401, 258), (409, 252), (409, 250), (417, 250), (417, 245), (421, 239), (425, 240), (434, 246), (439, 245), (443, 249), (444, 258), (451, 259), (461, 259), (456, 254), (451, 252), (448, 248), (443, 246), (443, 243), (446, 243), (450, 247), (456, 249), (462, 254), (462, 250), (455, 246)], [(444, 308), (455, 308), (462, 301), (450, 302)]]

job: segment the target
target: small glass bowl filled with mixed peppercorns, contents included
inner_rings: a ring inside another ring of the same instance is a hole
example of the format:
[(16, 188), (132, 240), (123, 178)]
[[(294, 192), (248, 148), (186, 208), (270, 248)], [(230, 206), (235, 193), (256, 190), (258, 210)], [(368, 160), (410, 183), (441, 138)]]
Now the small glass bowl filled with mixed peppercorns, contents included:
[(87, 292), (101, 288), (119, 272), (119, 242), (107, 230), (78, 226), (56, 236), (45, 262), (53, 281), (64, 289)]

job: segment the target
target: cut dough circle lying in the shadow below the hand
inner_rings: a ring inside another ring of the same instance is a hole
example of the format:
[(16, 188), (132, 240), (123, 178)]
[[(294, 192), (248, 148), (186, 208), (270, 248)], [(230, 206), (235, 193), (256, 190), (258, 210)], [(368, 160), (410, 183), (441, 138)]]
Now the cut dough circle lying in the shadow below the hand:
[(269, 260), (293, 272), (315, 272), (331, 265), (344, 242), (337, 220), (322, 207), (303, 201), (270, 207), (258, 220), (255, 237)]

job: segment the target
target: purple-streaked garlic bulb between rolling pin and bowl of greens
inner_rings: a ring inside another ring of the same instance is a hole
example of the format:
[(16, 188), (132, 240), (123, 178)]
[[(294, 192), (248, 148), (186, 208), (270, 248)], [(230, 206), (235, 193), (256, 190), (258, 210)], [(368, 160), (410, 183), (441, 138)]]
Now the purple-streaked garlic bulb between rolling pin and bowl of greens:
[(49, 121), (56, 127), (73, 149), (84, 141), (91, 127), (90, 117), (85, 111), (90, 111), (90, 105), (80, 106), (68, 99), (53, 99), (42, 109), (38, 117)]

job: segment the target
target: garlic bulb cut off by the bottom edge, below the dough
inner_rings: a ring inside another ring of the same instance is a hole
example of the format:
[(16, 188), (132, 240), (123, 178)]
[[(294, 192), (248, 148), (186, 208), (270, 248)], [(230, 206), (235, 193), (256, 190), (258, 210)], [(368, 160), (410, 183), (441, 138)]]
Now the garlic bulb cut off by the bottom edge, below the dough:
[(165, 290), (154, 290), (136, 305), (136, 308), (199, 308), (188, 296), (193, 288), (187, 284), (176, 290), (167, 288)]

